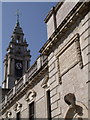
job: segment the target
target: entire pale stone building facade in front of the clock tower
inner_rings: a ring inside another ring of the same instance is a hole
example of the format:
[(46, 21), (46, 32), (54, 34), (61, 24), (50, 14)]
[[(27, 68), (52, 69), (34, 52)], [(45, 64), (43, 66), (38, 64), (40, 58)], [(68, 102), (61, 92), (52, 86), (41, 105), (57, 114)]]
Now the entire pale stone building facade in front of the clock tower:
[(45, 23), (48, 40), (3, 98), (2, 118), (89, 118), (90, 2), (60, 2)]

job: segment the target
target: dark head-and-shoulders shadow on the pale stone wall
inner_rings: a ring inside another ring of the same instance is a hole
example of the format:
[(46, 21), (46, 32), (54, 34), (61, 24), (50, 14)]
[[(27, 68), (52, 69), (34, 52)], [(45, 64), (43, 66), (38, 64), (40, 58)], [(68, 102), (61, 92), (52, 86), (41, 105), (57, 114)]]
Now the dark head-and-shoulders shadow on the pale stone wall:
[(65, 120), (83, 120), (88, 118), (88, 110), (84, 104), (76, 101), (76, 97), (73, 93), (69, 93), (64, 97), (64, 101), (69, 105), (69, 108), (65, 114)]

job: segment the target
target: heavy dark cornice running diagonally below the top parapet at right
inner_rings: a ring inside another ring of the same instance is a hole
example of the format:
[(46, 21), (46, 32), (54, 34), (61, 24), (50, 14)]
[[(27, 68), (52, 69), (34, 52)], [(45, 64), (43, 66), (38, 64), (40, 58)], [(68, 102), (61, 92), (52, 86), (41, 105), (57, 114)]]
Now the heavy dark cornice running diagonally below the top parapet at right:
[(86, 14), (89, 11), (90, 2), (78, 2), (73, 10), (66, 16), (66, 18), (62, 21), (59, 27), (54, 31), (51, 37), (47, 40), (44, 46), (40, 49), (40, 53), (49, 54), (50, 50), (55, 43), (58, 42), (58, 39), (63, 37), (66, 31), (68, 31), (69, 27), (75, 23), (79, 16)]

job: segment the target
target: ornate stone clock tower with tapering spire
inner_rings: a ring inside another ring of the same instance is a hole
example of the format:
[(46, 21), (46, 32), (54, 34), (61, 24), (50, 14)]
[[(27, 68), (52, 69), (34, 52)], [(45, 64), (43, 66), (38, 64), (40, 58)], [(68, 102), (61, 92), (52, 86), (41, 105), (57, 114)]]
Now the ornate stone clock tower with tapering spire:
[(19, 14), (17, 14), (17, 22), (4, 58), (3, 88), (11, 89), (15, 80), (19, 80), (29, 68), (31, 55), (27, 47), (28, 44), (19, 23)]

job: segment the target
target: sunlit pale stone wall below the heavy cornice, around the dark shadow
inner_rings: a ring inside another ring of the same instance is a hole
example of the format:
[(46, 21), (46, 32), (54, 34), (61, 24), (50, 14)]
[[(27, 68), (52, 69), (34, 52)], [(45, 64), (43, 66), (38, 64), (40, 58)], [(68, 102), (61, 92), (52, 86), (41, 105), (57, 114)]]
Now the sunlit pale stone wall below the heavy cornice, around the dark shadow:
[(54, 45), (55, 49), (48, 57), (53, 118), (65, 117), (68, 106), (64, 96), (68, 93), (74, 93), (76, 100), (84, 104), (86, 110), (83, 117), (88, 117), (89, 22), (90, 12), (74, 21), (68, 32), (58, 39), (60, 44)]

